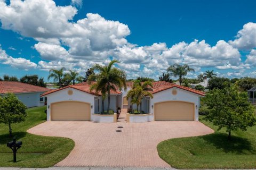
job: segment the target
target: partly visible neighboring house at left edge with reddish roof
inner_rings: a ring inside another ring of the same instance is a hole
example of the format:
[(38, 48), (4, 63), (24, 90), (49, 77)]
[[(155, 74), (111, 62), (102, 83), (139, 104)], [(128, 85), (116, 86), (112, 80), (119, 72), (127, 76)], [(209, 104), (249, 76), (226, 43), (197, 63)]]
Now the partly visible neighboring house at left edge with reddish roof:
[(0, 96), (13, 93), (27, 107), (43, 106), (45, 97), (41, 97), (41, 95), (50, 90), (17, 81), (0, 81)]

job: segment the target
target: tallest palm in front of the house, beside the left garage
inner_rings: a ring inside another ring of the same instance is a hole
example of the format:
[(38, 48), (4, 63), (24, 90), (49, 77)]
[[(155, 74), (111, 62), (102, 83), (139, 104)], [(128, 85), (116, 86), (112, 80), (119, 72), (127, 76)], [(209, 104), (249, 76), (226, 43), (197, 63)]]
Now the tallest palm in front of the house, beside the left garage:
[(119, 62), (113, 60), (108, 65), (95, 64), (92, 68), (94, 71), (98, 71), (98, 73), (95, 73), (94, 75), (91, 74), (87, 80), (89, 84), (91, 84), (93, 80), (96, 80), (96, 82), (92, 84), (91, 90), (95, 89), (102, 93), (102, 90), (106, 89), (108, 97), (108, 114), (110, 107), (110, 90), (116, 91), (117, 89), (122, 90), (122, 88), (126, 90), (126, 73), (121, 69), (113, 67), (115, 63)]

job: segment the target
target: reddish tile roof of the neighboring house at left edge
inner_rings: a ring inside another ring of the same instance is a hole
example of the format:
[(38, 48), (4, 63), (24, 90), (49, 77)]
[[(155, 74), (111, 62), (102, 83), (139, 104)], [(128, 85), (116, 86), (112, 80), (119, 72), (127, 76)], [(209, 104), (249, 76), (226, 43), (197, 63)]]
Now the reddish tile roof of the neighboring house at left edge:
[(7, 94), (9, 92), (14, 94), (26, 92), (45, 92), (50, 90), (51, 89), (21, 83), (18, 81), (0, 81), (0, 94)]

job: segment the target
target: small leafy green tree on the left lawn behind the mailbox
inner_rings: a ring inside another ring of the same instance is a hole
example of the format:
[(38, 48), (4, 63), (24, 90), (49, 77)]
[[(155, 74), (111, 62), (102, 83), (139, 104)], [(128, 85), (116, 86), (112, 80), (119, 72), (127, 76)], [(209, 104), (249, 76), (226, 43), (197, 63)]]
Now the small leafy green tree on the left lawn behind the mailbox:
[(12, 136), (12, 123), (25, 121), (26, 106), (14, 95), (8, 94), (0, 98), (0, 123), (9, 125), (9, 135)]

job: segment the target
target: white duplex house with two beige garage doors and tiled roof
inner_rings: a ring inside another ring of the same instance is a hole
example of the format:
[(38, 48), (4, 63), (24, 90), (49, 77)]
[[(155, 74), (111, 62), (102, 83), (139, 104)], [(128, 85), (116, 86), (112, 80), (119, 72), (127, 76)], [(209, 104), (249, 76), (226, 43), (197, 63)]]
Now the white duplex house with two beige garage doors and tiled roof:
[[(198, 121), (200, 98), (205, 93), (177, 84), (158, 81), (153, 83), (153, 96), (142, 100), (142, 111), (149, 113), (149, 121), (154, 120), (191, 120)], [(135, 109), (136, 105), (126, 99), (133, 82), (127, 82), (127, 90), (111, 91), (110, 109)], [(70, 85), (45, 92), (47, 97), (47, 121), (50, 120), (91, 120), (95, 121), (101, 112), (101, 94), (90, 91), (86, 82)], [(104, 101), (107, 110), (107, 98)], [(96, 113), (96, 114), (94, 114)]]

